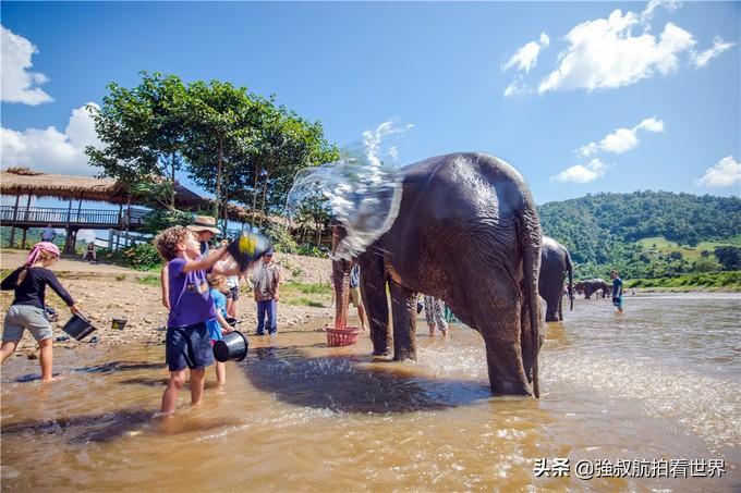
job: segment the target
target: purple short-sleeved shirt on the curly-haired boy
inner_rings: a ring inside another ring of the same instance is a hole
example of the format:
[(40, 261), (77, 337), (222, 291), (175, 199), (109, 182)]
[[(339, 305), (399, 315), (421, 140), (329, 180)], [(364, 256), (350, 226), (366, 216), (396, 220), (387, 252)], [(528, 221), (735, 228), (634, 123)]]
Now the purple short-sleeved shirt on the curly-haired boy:
[[(201, 259), (201, 257), (198, 257)], [(214, 299), (206, 282), (206, 271), (183, 272), (187, 260), (175, 258), (168, 263), (170, 317), (167, 326), (185, 326), (216, 318)]]

